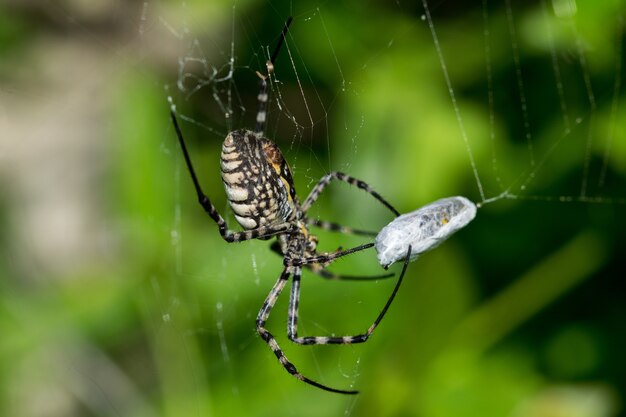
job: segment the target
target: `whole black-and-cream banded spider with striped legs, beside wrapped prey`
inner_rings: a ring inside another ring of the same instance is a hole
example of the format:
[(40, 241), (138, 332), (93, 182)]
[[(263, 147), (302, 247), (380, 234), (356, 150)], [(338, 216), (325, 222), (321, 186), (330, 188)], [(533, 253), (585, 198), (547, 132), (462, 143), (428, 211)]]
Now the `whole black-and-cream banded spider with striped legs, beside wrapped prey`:
[(311, 190), (303, 203), (300, 203), (293, 183), (289, 165), (283, 157), (280, 149), (271, 140), (264, 136), (266, 108), (268, 103), (268, 78), (274, 69), (274, 62), (285, 40), (290, 17), (281, 33), (274, 53), (267, 61), (267, 75), (260, 77), (260, 89), (258, 94), (258, 112), (256, 115), (256, 128), (251, 130), (235, 130), (230, 132), (222, 145), (221, 153), (221, 176), (228, 202), (234, 212), (235, 219), (243, 227), (244, 231), (235, 232), (228, 229), (226, 221), (218, 213), (215, 206), (204, 194), (195, 170), (189, 157), (189, 152), (183, 139), (182, 131), (176, 119), (176, 110), (172, 105), (170, 115), (174, 130), (178, 136), (180, 147), (200, 205), (205, 212), (217, 223), (219, 233), (228, 242), (241, 242), (251, 239), (270, 239), (276, 237), (277, 241), (272, 246), (274, 251), (283, 256), (284, 269), (278, 281), (272, 287), (265, 299), (261, 310), (256, 318), (256, 331), (269, 345), (270, 349), (278, 358), (280, 364), (297, 379), (326, 391), (341, 394), (356, 394), (358, 391), (341, 390), (328, 387), (313, 381), (300, 373), (295, 365), (287, 359), (279, 347), (274, 336), (267, 330), (265, 324), (270, 312), (279, 295), (285, 288), (291, 277), (291, 295), (289, 300), (289, 313), (287, 323), (288, 338), (300, 345), (326, 345), (326, 344), (352, 344), (365, 342), (376, 326), (383, 319), (387, 309), (391, 305), (402, 278), (406, 271), (410, 258), (410, 248), (406, 256), (402, 272), (398, 278), (391, 296), (387, 303), (374, 320), (373, 324), (362, 334), (355, 336), (300, 336), (298, 335), (298, 306), (300, 300), (300, 279), (302, 268), (329, 279), (378, 279), (387, 278), (393, 274), (378, 275), (371, 277), (354, 277), (334, 274), (325, 268), (337, 258), (354, 252), (371, 248), (374, 243), (366, 243), (351, 249), (338, 249), (332, 253), (318, 253), (316, 251), (317, 238), (309, 232), (308, 226), (316, 226), (322, 229), (339, 233), (352, 233), (357, 235), (375, 235), (375, 233), (351, 229), (335, 223), (325, 222), (307, 217), (307, 212), (315, 203), (326, 186), (333, 180), (343, 181), (364, 190), (372, 197), (387, 207), (395, 216), (398, 211), (391, 206), (380, 194), (374, 191), (368, 184), (350, 177), (341, 172), (331, 172), (323, 176), (317, 185)]

